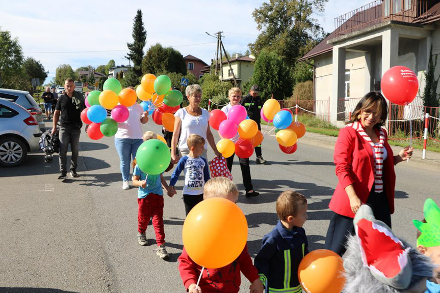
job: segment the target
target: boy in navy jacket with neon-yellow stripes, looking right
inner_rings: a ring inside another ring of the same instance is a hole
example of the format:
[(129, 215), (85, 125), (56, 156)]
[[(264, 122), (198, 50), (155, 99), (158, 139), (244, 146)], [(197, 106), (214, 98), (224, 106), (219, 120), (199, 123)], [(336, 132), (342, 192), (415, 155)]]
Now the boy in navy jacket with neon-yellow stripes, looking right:
[(269, 292), (302, 292), (298, 267), (308, 253), (302, 225), (307, 220), (307, 200), (296, 191), (284, 191), (276, 200), (276, 227), (263, 238), (254, 265)]

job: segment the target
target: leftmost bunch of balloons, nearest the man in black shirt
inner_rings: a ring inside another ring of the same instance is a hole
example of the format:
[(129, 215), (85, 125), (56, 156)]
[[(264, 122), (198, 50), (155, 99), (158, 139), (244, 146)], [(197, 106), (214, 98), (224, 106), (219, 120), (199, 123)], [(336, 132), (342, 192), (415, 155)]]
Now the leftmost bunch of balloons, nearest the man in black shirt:
[[(128, 119), (127, 107), (136, 103), (136, 92), (126, 88), (122, 90), (121, 83), (116, 78), (104, 82), (103, 91), (92, 91), (85, 100), (87, 108), (81, 112), (81, 120), (88, 124), (87, 135), (91, 139), (103, 136), (113, 136), (118, 131), (118, 123)], [(107, 110), (111, 118), (107, 118)]]

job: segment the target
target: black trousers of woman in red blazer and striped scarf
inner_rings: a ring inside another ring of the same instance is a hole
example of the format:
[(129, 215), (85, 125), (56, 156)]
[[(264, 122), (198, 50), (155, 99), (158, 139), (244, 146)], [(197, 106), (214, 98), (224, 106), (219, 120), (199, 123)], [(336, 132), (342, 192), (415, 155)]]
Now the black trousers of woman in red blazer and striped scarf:
[[(373, 210), (376, 220), (382, 221), (391, 228), (391, 213), (385, 192), (374, 192), (374, 186), (367, 199), (367, 204)], [(325, 249), (343, 255), (347, 248), (345, 244), (349, 235), (354, 235), (353, 218), (333, 213), (325, 238)]]

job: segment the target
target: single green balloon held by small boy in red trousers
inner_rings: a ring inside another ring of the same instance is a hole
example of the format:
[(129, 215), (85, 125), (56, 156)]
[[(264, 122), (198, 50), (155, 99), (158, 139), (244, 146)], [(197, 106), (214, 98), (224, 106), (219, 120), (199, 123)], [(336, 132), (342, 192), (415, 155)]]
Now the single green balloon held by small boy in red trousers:
[(159, 139), (148, 139), (138, 148), (136, 162), (144, 173), (161, 174), (171, 162), (170, 149)]

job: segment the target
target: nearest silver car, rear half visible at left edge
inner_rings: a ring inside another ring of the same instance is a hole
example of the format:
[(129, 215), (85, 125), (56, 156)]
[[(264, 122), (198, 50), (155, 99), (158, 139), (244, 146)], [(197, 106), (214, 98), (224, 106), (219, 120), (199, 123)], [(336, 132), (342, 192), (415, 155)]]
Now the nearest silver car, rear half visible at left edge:
[(42, 132), (24, 107), (0, 98), (0, 166), (19, 165), (28, 152), (40, 150)]

